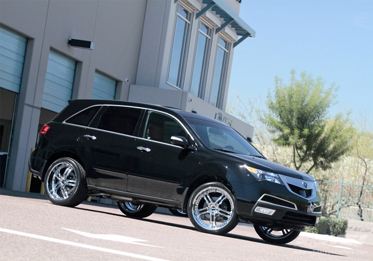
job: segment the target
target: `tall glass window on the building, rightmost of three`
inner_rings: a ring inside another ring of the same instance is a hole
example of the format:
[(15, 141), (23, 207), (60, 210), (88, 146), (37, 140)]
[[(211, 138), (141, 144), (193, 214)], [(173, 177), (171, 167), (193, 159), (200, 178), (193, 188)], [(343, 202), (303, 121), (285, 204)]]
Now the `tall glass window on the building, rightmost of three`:
[(225, 79), (227, 74), (229, 43), (219, 38), (218, 48), (216, 52), (215, 69), (212, 78), (209, 103), (221, 108), (222, 95), (224, 93)]

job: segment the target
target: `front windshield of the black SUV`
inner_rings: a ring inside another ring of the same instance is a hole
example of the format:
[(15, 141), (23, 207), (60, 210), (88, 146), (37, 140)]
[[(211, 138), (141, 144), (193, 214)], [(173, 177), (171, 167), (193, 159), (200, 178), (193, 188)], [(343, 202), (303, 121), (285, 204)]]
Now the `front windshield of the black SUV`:
[(210, 149), (263, 157), (244, 137), (227, 125), (189, 117), (186, 120)]

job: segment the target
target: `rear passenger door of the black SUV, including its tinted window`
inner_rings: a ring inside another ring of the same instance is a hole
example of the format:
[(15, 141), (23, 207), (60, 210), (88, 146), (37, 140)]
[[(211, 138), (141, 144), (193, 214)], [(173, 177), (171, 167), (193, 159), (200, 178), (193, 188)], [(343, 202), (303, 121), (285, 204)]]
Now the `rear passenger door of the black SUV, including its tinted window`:
[(80, 151), (87, 164), (89, 184), (126, 191), (137, 125), (143, 109), (104, 106), (80, 136)]

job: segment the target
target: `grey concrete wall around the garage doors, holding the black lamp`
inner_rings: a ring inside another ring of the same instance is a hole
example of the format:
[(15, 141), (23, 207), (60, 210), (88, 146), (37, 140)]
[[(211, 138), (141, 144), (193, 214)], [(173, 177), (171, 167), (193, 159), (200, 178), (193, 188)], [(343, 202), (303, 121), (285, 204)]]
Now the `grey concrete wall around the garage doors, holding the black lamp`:
[[(146, 0), (1, 0), (0, 23), (29, 40), (5, 186), (25, 190), (30, 149), (37, 137), (50, 49), (77, 63), (72, 98), (90, 98), (95, 70), (118, 81), (118, 99), (135, 83)], [(93, 41), (74, 48), (69, 38)], [(124, 79), (129, 82), (125, 83)]]

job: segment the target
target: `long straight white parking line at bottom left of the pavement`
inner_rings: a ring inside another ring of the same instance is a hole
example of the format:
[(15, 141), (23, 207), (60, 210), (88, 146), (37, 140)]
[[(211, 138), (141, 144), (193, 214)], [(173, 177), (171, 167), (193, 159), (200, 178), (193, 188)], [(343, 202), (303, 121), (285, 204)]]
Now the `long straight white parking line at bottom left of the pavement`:
[(45, 240), (45, 241), (60, 243), (60, 244), (64, 244), (64, 245), (74, 246), (74, 247), (92, 249), (92, 250), (96, 250), (96, 251), (101, 251), (101, 252), (106, 252), (106, 253), (111, 253), (111, 254), (116, 254), (116, 255), (121, 255), (121, 256), (127, 256), (127, 257), (131, 257), (131, 258), (138, 258), (138, 259), (150, 260), (150, 261), (167, 261), (167, 260), (164, 260), (164, 259), (152, 258), (152, 257), (137, 255), (137, 254), (133, 254), (133, 253), (117, 251), (117, 250), (113, 250), (113, 249), (100, 248), (100, 247), (95, 247), (95, 246), (70, 242), (70, 241), (61, 240), (61, 239), (49, 238), (49, 237), (44, 237), (44, 236), (39, 236), (39, 235), (34, 235), (34, 234), (24, 233), (24, 232), (15, 231), (15, 230), (4, 229), (4, 228), (0, 228), (0, 232), (19, 235), (19, 236), (24, 236), (24, 237), (29, 237), (29, 238), (34, 238), (34, 239), (41, 239), (41, 240)]

